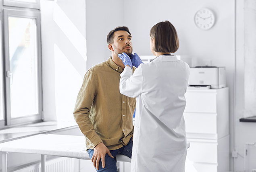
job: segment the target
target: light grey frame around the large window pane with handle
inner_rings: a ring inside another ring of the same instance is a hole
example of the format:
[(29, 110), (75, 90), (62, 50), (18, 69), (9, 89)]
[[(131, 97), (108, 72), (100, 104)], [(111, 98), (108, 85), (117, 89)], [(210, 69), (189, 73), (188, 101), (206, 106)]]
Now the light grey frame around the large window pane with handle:
[[(4, 121), (5, 125), (19, 125), (32, 122), (42, 121), (42, 57), (41, 57), (41, 33), (40, 33), (40, 12), (39, 11), (23, 11), (23, 10), (12, 10), (4, 9), (2, 10), (2, 33), (3, 33), (3, 59), (4, 59), (4, 90), (5, 90), (5, 112)], [(38, 78), (38, 114), (27, 115), (24, 117), (17, 117), (11, 119), (10, 114), (10, 78), (7, 77), (7, 71), (10, 69), (9, 64), (9, 31), (8, 31), (8, 17), (19, 17), (19, 18), (35, 18), (35, 23), (37, 27), (37, 78)], [(2, 123), (0, 121), (0, 128)]]

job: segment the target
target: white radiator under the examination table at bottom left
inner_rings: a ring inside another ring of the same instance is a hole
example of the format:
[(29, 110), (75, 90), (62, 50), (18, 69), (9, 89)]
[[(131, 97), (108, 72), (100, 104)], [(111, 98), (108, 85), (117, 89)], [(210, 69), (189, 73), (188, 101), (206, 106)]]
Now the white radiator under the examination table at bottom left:
[[(14, 172), (41, 172), (41, 164), (36, 163)], [(63, 157), (47, 160), (46, 172), (75, 172), (75, 160)]]

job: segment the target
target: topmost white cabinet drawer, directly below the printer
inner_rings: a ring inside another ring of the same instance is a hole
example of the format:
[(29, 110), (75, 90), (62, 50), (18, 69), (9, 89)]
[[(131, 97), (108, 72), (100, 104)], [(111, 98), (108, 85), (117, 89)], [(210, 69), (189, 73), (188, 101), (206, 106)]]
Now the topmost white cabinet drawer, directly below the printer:
[(184, 112), (217, 113), (216, 92), (186, 92)]

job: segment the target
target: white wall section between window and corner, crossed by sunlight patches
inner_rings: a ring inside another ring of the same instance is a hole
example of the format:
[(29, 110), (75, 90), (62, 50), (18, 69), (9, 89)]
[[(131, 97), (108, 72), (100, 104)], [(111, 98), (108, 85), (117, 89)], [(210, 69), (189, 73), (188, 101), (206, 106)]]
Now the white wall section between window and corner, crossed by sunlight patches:
[(86, 72), (85, 0), (41, 0), (44, 120), (74, 121)]

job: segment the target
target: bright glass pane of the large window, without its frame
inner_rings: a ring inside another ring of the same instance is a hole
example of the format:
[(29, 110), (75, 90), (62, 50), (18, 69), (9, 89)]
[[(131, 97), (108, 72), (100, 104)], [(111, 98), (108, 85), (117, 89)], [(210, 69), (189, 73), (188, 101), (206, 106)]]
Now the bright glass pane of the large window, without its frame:
[(35, 18), (8, 17), (11, 118), (38, 114)]

